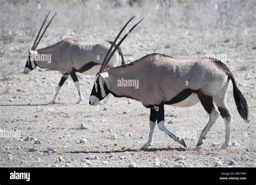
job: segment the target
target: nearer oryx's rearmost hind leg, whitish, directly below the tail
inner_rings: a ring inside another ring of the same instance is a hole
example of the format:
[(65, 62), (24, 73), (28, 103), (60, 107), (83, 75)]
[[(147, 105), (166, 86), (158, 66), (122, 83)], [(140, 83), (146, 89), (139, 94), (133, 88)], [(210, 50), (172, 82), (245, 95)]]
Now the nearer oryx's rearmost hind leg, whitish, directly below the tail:
[(230, 83), (227, 83), (227, 85), (225, 85), (220, 90), (220, 92), (213, 97), (213, 101), (217, 105), (220, 115), (221, 117), (223, 117), (225, 122), (226, 138), (225, 138), (224, 145), (221, 147), (223, 149), (226, 149), (228, 146), (230, 146), (230, 127), (231, 127), (232, 117), (231, 117), (230, 111), (228, 111), (228, 108), (226, 106), (226, 96), (227, 96), (227, 91), (229, 87), (230, 87)]

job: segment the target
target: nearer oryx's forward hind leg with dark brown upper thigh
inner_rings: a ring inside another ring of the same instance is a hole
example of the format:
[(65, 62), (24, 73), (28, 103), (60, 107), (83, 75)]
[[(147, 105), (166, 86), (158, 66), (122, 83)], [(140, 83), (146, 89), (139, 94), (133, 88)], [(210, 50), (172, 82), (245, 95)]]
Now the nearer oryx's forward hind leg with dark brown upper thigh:
[(203, 129), (203, 131), (201, 132), (201, 134), (199, 136), (197, 147), (199, 147), (200, 145), (202, 145), (204, 143), (206, 134), (208, 133), (208, 131), (210, 131), (214, 122), (219, 117), (219, 112), (217, 111), (217, 109), (215, 108), (215, 106), (213, 104), (212, 96), (198, 94), (198, 99), (200, 100), (201, 104), (203, 105), (205, 111), (209, 114), (210, 118), (209, 118), (207, 125), (205, 126), (205, 128)]

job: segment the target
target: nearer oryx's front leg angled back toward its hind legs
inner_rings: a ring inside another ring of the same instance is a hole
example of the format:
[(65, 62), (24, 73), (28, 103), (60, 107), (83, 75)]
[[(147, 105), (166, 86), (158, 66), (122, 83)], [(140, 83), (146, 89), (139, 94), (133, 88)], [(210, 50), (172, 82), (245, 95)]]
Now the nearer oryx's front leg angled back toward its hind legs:
[(160, 129), (160, 131), (165, 132), (167, 135), (169, 135), (174, 141), (177, 141), (184, 147), (187, 147), (185, 139), (179, 138), (177, 135), (171, 133), (167, 128), (164, 126), (164, 104), (155, 106), (156, 112), (157, 112), (157, 126)]

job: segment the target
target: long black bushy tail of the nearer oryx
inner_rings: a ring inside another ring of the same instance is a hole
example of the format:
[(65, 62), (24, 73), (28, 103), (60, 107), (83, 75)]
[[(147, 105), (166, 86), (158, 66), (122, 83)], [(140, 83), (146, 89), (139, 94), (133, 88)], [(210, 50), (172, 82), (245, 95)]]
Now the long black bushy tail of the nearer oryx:
[(241, 91), (237, 87), (237, 83), (235, 83), (234, 76), (231, 72), (228, 73), (228, 77), (230, 77), (233, 83), (233, 94), (235, 105), (237, 105), (237, 110), (240, 116), (247, 121), (248, 120), (248, 105), (244, 95), (242, 95)]

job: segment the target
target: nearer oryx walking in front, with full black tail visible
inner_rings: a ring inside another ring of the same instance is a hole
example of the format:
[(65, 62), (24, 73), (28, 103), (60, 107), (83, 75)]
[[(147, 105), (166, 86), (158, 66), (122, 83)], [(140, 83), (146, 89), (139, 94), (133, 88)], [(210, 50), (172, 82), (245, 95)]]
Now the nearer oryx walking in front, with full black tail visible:
[[(123, 29), (113, 44), (117, 42)], [(117, 46), (123, 42), (125, 37), (127, 35), (120, 40)], [(112, 50), (113, 44), (108, 54)], [(184, 139), (165, 128), (164, 105), (190, 107), (198, 102), (201, 102), (210, 119), (200, 134), (197, 147), (203, 144), (207, 132), (221, 115), (226, 126), (226, 139), (222, 148), (227, 148), (230, 144), (231, 113), (226, 106), (226, 95), (230, 81), (233, 83), (234, 100), (238, 112), (244, 120), (247, 120), (248, 106), (246, 100), (239, 91), (233, 74), (221, 61), (212, 58), (177, 59), (164, 54), (153, 53), (130, 64), (106, 68), (116, 49), (117, 47), (111, 54), (106, 55), (100, 71), (96, 74), (89, 104), (97, 105), (100, 100), (111, 93), (114, 97), (129, 97), (139, 100), (145, 107), (150, 108), (149, 140), (143, 148), (152, 144), (156, 121), (161, 131), (164, 131), (174, 141), (187, 147)], [(118, 84), (120, 79), (138, 80), (139, 86), (138, 88), (122, 87)]]

